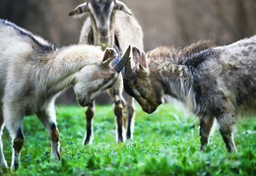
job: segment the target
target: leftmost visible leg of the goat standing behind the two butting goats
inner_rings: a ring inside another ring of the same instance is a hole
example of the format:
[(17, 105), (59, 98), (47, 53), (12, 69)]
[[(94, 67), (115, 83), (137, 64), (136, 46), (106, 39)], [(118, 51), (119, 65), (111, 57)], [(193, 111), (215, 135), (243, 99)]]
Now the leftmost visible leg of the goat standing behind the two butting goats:
[(94, 128), (93, 120), (96, 112), (95, 101), (90, 103), (87, 107), (86, 118), (87, 118), (87, 133), (85, 135), (84, 145), (92, 144), (94, 141)]

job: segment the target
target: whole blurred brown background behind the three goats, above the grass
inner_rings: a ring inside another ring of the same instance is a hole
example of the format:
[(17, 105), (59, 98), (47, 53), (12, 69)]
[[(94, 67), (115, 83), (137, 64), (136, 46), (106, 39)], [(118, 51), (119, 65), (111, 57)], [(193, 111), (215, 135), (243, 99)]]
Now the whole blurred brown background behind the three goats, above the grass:
[[(85, 19), (68, 16), (84, 0), (0, 0), (0, 18), (29, 29), (57, 46), (78, 43)], [(144, 30), (145, 50), (183, 47), (200, 39), (218, 45), (256, 33), (255, 0), (123, 0)], [(58, 103), (76, 103), (72, 89)], [(97, 103), (110, 102), (105, 93)]]

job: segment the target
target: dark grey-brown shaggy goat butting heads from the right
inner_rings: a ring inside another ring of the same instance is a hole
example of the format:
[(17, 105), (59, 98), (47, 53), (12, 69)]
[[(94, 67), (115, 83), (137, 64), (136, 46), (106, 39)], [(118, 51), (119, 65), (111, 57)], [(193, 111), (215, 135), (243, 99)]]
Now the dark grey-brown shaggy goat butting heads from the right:
[(123, 70), (124, 88), (143, 110), (153, 113), (163, 95), (183, 102), (200, 120), (205, 150), (214, 119), (228, 151), (237, 150), (233, 128), (238, 116), (256, 114), (256, 35), (214, 47), (198, 42), (177, 50), (159, 47), (147, 56), (133, 48), (135, 66)]

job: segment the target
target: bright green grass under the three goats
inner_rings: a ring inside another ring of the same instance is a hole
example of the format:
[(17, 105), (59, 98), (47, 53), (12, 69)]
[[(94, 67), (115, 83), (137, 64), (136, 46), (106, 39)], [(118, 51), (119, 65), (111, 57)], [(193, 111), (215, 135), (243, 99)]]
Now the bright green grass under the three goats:
[[(85, 109), (58, 106), (61, 161), (50, 159), (50, 140), (36, 117), (24, 122), (25, 146), (17, 171), (0, 175), (255, 175), (255, 117), (239, 119), (235, 143), (238, 152), (228, 153), (218, 130), (201, 152), (198, 119), (161, 105), (148, 115), (136, 107), (134, 140), (115, 143), (112, 106), (96, 106), (95, 141), (84, 147)], [(184, 117), (185, 116), (185, 117)], [(11, 140), (3, 135), (4, 153), (11, 162)]]

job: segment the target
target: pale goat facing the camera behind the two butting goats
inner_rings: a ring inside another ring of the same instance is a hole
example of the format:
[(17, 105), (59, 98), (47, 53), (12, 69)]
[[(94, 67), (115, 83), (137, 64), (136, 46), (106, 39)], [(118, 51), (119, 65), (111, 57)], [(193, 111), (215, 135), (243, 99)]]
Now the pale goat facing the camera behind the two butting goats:
[[(105, 47), (117, 45), (120, 50), (124, 50), (128, 45), (134, 45), (143, 49), (143, 32), (136, 18), (131, 16), (130, 9), (117, 0), (87, 0), (79, 5), (69, 16), (78, 17), (89, 14), (89, 18), (81, 30), (80, 43), (87, 43)], [(117, 142), (125, 141), (124, 129), (126, 128), (126, 138), (133, 138), (134, 126), (134, 100), (128, 96), (127, 118), (124, 109), (126, 106), (122, 96), (123, 83), (121, 75), (113, 88), (108, 89), (112, 101), (114, 102), (114, 114), (116, 116), (116, 139)], [(84, 144), (93, 143), (93, 118), (95, 115), (95, 104), (92, 102), (86, 111), (87, 133)]]

